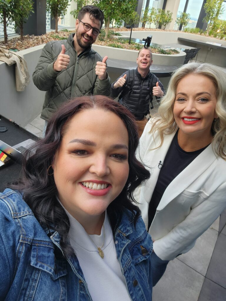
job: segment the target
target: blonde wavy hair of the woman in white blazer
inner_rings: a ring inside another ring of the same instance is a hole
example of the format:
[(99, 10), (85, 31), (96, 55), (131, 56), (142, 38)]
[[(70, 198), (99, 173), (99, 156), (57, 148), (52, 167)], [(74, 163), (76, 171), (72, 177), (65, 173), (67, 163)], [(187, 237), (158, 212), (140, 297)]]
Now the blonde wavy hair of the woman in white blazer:
[(214, 135), (212, 147), (218, 156), (226, 160), (226, 73), (220, 67), (207, 63), (190, 63), (174, 71), (168, 85), (167, 93), (162, 98), (158, 113), (152, 119), (150, 133), (154, 135), (155, 132), (158, 132), (160, 136), (160, 144), (156, 148), (162, 146), (164, 134), (171, 134), (177, 128), (173, 114), (177, 85), (184, 76), (189, 74), (207, 76), (216, 87), (217, 104), (215, 112), (218, 118), (212, 123), (212, 132)]

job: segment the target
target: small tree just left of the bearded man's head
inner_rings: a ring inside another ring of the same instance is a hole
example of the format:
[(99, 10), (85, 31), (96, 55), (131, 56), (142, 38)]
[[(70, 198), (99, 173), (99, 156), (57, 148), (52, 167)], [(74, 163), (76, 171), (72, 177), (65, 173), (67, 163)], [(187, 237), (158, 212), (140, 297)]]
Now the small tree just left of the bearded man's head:
[(55, 18), (55, 32), (58, 33), (59, 17), (64, 17), (70, 0), (46, 0), (46, 11)]

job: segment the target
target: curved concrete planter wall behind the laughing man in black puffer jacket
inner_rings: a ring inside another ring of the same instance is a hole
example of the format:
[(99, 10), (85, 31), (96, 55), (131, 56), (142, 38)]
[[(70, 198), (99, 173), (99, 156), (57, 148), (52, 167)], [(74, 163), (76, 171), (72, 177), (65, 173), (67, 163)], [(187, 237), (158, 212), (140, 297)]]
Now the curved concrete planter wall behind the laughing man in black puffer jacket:
[[(92, 48), (97, 51), (102, 57), (107, 55), (109, 58), (116, 60), (124, 60), (136, 62), (138, 51), (121, 48), (114, 48), (101, 45), (92, 45)], [(165, 66), (183, 65), (186, 53), (179, 51), (178, 54), (157, 54), (153, 53), (153, 64)]]

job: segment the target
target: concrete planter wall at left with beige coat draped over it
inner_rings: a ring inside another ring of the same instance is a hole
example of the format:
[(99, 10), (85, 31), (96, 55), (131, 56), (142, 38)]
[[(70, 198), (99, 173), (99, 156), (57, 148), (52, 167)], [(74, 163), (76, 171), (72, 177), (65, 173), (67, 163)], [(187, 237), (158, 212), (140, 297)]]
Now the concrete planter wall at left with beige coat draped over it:
[(12, 119), (23, 127), (35, 119), (42, 111), (45, 92), (40, 91), (33, 84), (32, 74), (44, 45), (17, 52), (24, 55), (30, 74), (30, 83), (22, 92), (16, 91), (15, 65), (8, 66), (4, 62), (0, 62), (0, 114)]

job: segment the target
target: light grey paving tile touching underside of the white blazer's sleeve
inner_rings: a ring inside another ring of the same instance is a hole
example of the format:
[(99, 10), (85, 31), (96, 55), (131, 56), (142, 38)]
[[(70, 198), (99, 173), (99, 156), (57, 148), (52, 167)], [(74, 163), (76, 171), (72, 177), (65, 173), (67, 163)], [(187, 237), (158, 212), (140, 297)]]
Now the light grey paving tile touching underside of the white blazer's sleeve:
[(207, 229), (197, 240), (195, 246), (185, 254), (177, 258), (206, 276), (206, 272), (210, 263), (210, 259), (217, 241), (218, 231)]

